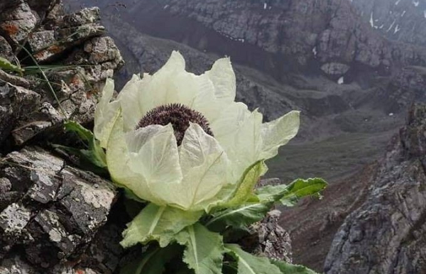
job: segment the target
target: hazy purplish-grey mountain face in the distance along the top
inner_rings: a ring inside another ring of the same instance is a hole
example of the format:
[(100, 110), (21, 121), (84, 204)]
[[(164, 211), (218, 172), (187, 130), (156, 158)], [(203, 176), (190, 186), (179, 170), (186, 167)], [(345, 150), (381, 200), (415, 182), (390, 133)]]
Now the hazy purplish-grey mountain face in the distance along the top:
[[(120, 11), (115, 2), (103, 4)], [(425, 50), (390, 43), (361, 20), (346, 0), (122, 3), (126, 4), (122, 18), (138, 31), (230, 55), (280, 80), (295, 70), (319, 70), (318, 62), (357, 63), (388, 74), (400, 64), (424, 65), (426, 61)]]

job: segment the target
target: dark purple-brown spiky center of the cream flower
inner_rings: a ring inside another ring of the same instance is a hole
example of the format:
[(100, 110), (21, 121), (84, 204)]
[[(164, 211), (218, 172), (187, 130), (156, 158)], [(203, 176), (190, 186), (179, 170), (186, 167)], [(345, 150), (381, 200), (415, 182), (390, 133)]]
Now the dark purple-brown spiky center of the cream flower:
[(190, 127), (190, 122), (199, 124), (205, 133), (213, 136), (209, 127), (209, 121), (198, 111), (188, 108), (182, 104), (166, 104), (157, 106), (148, 111), (139, 121), (137, 128), (149, 125), (172, 124), (178, 146), (182, 143), (185, 131)]

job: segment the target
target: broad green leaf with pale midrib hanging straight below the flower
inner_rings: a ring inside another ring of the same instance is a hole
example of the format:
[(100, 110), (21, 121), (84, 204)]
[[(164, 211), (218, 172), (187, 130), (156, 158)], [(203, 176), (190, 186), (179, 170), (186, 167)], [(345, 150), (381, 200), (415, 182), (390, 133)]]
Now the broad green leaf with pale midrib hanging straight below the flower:
[(222, 274), (224, 243), (220, 234), (196, 223), (180, 231), (176, 240), (186, 246), (183, 261), (195, 274)]

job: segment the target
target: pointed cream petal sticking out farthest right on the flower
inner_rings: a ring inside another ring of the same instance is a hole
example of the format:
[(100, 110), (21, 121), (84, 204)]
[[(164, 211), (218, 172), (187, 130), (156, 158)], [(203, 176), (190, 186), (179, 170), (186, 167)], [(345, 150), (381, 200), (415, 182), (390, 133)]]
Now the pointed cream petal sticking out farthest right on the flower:
[(300, 111), (290, 111), (274, 121), (262, 124), (262, 151), (260, 158), (269, 159), (278, 154), (278, 148), (294, 138), (299, 131)]

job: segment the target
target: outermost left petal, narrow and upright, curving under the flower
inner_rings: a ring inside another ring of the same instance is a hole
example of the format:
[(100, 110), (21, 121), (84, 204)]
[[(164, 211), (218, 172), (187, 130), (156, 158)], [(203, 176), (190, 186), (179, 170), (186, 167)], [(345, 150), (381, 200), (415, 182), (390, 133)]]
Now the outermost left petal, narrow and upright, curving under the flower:
[(113, 119), (113, 128), (107, 146), (107, 165), (111, 179), (119, 185), (129, 188), (136, 196), (158, 205), (165, 205), (162, 199), (155, 197), (148, 187), (146, 178), (130, 168), (130, 152), (123, 130), (124, 121), (121, 111)]

